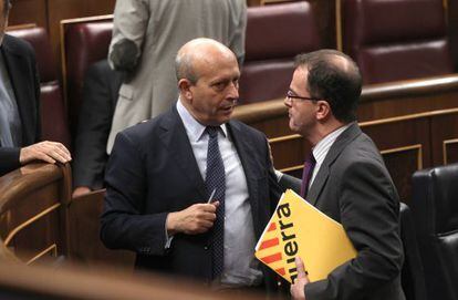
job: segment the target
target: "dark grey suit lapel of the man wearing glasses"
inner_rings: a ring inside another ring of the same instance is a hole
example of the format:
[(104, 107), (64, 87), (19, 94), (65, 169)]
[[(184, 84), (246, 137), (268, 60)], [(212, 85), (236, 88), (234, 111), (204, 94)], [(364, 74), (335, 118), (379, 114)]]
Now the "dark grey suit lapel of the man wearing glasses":
[(310, 201), (312, 205), (316, 206), (320, 194), (323, 190), (323, 187), (325, 186), (325, 183), (327, 182), (327, 178), (330, 176), (330, 168), (332, 164), (335, 162), (335, 159), (339, 157), (339, 155), (342, 153), (345, 146), (354, 138), (356, 138), (356, 136), (358, 136), (360, 134), (360, 126), (356, 123), (353, 123), (337, 137), (337, 139), (335, 139), (334, 144), (332, 144), (306, 196), (306, 200)]

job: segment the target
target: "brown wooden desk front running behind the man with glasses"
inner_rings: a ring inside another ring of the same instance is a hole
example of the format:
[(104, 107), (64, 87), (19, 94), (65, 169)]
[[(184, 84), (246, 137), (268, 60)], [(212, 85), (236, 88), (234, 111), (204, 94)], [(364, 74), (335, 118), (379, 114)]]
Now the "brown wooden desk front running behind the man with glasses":
[[(410, 177), (420, 168), (458, 162), (458, 76), (364, 86), (360, 124), (382, 151), (403, 201), (409, 203)], [(266, 133), (278, 169), (301, 176), (310, 152), (292, 133), (283, 100), (242, 105), (235, 117)]]

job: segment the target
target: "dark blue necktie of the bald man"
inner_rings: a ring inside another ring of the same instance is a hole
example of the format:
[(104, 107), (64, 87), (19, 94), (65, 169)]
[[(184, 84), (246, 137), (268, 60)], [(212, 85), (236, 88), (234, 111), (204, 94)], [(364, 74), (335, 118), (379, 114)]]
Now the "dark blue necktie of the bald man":
[(209, 136), (207, 151), (207, 177), (205, 179), (208, 197), (216, 190), (214, 198), (219, 201), (217, 219), (212, 228), (212, 278), (222, 272), (225, 265), (225, 196), (226, 174), (218, 145), (218, 131), (220, 127), (207, 126)]

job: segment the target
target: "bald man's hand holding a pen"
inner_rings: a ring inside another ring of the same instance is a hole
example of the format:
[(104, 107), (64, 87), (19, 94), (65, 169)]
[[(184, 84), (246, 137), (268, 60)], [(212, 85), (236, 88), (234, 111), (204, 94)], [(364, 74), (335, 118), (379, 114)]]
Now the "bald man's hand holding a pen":
[(219, 201), (211, 204), (195, 204), (188, 208), (168, 214), (166, 228), (168, 235), (178, 232), (197, 235), (208, 231), (216, 220), (216, 209)]

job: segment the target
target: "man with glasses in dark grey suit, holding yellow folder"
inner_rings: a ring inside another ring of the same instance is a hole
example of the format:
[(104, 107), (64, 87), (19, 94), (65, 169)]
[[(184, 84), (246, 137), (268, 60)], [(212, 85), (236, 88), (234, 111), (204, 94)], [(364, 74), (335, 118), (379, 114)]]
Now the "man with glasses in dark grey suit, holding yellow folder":
[(294, 299), (404, 299), (399, 200), (379, 152), (356, 123), (361, 82), (356, 64), (339, 51), (298, 56), (284, 103), (290, 128), (313, 146), (301, 194), (343, 225), (357, 255), (315, 282), (308, 261), (296, 258)]

